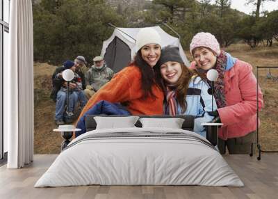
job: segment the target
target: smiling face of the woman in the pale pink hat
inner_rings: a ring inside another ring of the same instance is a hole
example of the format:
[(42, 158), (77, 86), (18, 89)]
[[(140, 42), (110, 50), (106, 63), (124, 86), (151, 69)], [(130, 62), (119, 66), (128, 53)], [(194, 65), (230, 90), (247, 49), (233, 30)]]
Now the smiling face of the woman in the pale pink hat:
[(211, 69), (216, 63), (216, 54), (206, 47), (198, 47), (193, 49), (193, 58), (197, 63), (197, 67), (203, 70)]

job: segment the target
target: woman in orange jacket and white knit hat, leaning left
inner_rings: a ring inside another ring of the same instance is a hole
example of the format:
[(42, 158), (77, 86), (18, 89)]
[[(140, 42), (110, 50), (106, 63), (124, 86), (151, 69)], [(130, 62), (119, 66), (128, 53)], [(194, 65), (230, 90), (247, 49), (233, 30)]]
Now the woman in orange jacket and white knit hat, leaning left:
[(133, 115), (163, 114), (163, 91), (153, 70), (161, 57), (161, 37), (155, 29), (141, 29), (136, 47), (134, 61), (90, 98), (79, 119), (101, 100), (124, 103)]

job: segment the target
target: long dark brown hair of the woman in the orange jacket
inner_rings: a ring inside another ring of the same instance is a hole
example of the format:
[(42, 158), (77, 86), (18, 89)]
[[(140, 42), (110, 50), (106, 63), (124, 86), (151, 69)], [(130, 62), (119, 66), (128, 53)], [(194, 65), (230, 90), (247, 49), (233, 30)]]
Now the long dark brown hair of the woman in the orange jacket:
[(158, 87), (162, 89), (162, 83), (161, 79), (158, 79), (156, 73), (157, 71), (154, 71), (152, 67), (150, 67), (147, 62), (142, 58), (141, 51), (139, 50), (134, 58), (133, 61), (134, 65), (139, 68), (141, 72), (141, 88), (143, 90), (143, 99), (146, 99), (147, 97), (153, 97), (154, 99), (156, 96), (152, 92), (152, 86), (156, 84)]

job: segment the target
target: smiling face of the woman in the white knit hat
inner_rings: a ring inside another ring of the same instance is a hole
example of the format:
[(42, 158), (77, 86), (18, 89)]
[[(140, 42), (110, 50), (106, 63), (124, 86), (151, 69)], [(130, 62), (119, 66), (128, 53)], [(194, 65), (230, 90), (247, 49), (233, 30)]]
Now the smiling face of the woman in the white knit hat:
[(150, 67), (154, 67), (161, 57), (161, 46), (158, 44), (148, 44), (141, 49), (142, 59), (147, 62)]

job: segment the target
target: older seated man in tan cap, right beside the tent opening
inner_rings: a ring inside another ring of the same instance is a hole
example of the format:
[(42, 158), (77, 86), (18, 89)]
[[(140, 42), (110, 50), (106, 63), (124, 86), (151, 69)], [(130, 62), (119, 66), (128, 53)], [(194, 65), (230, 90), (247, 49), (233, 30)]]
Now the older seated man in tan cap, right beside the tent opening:
[(101, 56), (96, 56), (93, 61), (94, 65), (85, 73), (86, 89), (84, 92), (88, 100), (101, 86), (110, 81), (114, 74)]

